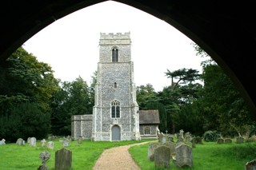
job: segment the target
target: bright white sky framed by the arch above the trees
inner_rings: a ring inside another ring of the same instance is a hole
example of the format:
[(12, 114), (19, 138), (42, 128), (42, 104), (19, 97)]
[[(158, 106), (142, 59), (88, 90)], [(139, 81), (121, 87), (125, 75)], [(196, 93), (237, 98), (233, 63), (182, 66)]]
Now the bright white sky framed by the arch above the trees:
[(99, 61), (100, 33), (126, 32), (130, 32), (136, 86), (151, 84), (158, 92), (170, 85), (167, 69), (202, 72), (202, 57), (196, 56), (190, 38), (153, 15), (114, 1), (58, 19), (25, 42), (23, 48), (38, 61), (48, 63), (55, 78), (74, 81), (80, 76), (90, 85)]

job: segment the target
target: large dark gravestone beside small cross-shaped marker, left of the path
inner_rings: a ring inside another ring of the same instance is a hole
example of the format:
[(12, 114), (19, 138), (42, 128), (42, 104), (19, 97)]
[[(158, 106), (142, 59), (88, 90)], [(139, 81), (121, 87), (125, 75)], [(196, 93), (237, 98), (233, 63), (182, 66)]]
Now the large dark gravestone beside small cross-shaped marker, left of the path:
[(55, 170), (70, 169), (72, 167), (72, 152), (62, 148), (55, 152)]

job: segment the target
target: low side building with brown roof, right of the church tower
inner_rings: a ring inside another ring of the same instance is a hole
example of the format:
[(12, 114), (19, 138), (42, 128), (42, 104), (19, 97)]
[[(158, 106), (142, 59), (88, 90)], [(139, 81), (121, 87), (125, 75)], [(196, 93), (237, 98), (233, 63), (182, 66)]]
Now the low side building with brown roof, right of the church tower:
[(157, 139), (160, 124), (158, 110), (139, 110), (139, 132), (142, 139)]

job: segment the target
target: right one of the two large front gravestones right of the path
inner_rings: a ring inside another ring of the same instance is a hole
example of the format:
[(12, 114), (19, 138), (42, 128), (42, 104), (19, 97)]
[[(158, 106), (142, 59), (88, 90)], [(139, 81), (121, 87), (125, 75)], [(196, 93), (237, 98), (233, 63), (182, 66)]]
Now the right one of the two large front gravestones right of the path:
[(193, 167), (193, 155), (192, 148), (187, 144), (178, 145), (176, 148), (176, 160), (175, 164), (179, 168), (189, 166)]

